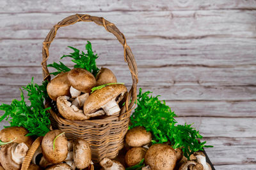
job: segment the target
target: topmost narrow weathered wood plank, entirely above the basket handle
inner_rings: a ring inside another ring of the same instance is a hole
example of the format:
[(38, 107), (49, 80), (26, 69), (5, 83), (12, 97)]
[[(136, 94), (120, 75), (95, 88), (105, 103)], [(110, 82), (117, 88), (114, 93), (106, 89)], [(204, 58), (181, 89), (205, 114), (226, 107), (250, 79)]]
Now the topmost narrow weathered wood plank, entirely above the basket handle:
[(217, 0), (212, 1), (19, 1), (19, 0), (2, 0), (0, 7), (1, 13), (24, 13), (24, 12), (63, 12), (72, 11), (74, 13), (84, 11), (164, 11), (164, 10), (212, 10), (212, 9), (256, 9), (256, 3), (250, 1), (232, 1)]

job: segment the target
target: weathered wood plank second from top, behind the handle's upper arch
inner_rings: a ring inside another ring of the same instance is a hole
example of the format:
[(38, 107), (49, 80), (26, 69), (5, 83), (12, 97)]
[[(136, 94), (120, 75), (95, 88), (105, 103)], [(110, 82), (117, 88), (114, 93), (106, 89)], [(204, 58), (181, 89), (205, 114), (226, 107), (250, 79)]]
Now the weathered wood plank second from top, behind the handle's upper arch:
[[(72, 14), (3, 14), (0, 16), (0, 31), (4, 31), (4, 34), (0, 38), (45, 38), (51, 27), (57, 24), (56, 21)], [(243, 11), (243, 13), (239, 10), (129, 11), (122, 15), (119, 14), (118, 11), (90, 13), (90, 15), (104, 17), (116, 24), (127, 39), (138, 37), (165, 39), (255, 37), (256, 11), (254, 10)], [(230, 27), (230, 23), (232, 23), (232, 27)], [(90, 32), (90, 34), (86, 34), (86, 32)], [(112, 34), (106, 32), (104, 27), (88, 22), (63, 27), (58, 31), (58, 38), (67, 38), (67, 35), (68, 38), (114, 38)]]

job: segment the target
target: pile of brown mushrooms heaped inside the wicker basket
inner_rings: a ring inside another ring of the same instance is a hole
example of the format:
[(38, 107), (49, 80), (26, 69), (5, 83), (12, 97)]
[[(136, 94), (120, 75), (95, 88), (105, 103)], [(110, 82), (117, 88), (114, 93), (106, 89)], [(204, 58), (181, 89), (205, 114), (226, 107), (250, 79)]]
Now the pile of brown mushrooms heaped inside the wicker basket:
[(116, 77), (108, 68), (102, 67), (96, 78), (82, 68), (60, 73), (47, 85), (47, 93), (56, 101), (61, 116), (68, 120), (88, 120), (102, 115), (118, 115), (119, 103), (127, 89), (123, 84), (113, 84), (96, 90), (93, 87), (116, 83)]

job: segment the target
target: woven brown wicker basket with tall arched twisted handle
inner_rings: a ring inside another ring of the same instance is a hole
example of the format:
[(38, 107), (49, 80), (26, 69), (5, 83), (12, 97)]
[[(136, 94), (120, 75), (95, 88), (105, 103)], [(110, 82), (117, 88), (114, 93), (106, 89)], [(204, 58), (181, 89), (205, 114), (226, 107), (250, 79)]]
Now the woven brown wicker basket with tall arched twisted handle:
[(125, 106), (121, 108), (120, 115), (111, 116), (97, 120), (66, 120), (61, 117), (56, 110), (56, 104), (48, 99), (45, 103), (46, 107), (51, 107), (51, 124), (53, 129), (60, 129), (65, 132), (68, 139), (83, 138), (90, 143), (92, 148), (92, 160), (99, 162), (104, 157), (113, 159), (118, 151), (124, 146), (124, 136), (128, 129), (129, 117), (136, 102), (136, 88), (138, 83), (138, 71), (136, 61), (132, 55), (131, 48), (127, 45), (125, 36), (117, 27), (102, 17), (93, 17), (90, 15), (71, 15), (57, 25), (52, 27), (51, 31), (45, 38), (42, 49), (42, 69), (44, 80), (51, 80), (47, 69), (47, 59), (49, 57), (49, 47), (56, 36), (56, 32), (60, 27), (75, 24), (76, 22), (95, 22), (97, 25), (104, 26), (106, 31), (116, 36), (118, 41), (124, 46), (124, 60), (127, 62), (132, 76), (132, 87), (126, 95)]

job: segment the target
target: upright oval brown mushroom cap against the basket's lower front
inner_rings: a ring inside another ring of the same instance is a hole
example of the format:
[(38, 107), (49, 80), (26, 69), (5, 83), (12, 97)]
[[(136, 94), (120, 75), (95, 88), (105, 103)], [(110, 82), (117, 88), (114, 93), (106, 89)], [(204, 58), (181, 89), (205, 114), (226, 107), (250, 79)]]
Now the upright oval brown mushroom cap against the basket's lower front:
[(74, 162), (78, 169), (84, 169), (88, 167), (92, 160), (92, 151), (90, 145), (81, 138), (74, 141)]

